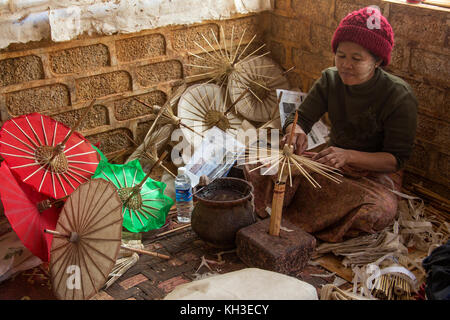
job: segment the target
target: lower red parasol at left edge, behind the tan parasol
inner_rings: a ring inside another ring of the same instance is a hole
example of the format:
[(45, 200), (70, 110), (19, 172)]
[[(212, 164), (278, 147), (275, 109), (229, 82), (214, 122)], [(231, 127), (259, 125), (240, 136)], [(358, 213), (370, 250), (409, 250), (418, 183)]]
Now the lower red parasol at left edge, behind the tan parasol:
[(49, 261), (53, 236), (44, 233), (44, 229), (56, 227), (61, 208), (45, 209), (50, 203), (48, 197), (17, 181), (4, 161), (0, 176), (0, 199), (11, 227), (35, 256)]

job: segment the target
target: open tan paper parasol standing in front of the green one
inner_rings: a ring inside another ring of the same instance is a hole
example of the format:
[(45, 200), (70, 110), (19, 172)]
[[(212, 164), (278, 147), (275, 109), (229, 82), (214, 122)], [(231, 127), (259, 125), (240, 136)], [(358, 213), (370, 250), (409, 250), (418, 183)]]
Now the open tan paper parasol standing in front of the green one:
[(105, 284), (119, 254), (122, 201), (108, 181), (96, 179), (67, 199), (54, 230), (50, 273), (58, 299), (89, 299)]

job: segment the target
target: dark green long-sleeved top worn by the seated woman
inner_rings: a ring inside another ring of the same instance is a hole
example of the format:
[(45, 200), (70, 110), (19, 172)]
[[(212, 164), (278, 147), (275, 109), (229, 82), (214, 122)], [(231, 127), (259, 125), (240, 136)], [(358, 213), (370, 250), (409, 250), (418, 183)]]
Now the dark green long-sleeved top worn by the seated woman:
[[(410, 157), (417, 126), (417, 99), (402, 79), (377, 68), (373, 78), (345, 85), (336, 67), (325, 69), (299, 107), (298, 124), (308, 134), (325, 112), (330, 144), (364, 152), (389, 152), (397, 169)], [(294, 121), (291, 114), (283, 127)]]

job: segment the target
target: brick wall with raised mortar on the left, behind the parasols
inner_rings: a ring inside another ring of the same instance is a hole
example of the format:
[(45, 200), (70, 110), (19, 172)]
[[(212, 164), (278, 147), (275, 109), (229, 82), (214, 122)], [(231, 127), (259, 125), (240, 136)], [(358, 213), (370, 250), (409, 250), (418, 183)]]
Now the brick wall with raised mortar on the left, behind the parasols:
[(71, 126), (97, 98), (79, 131), (100, 142), (109, 158), (130, 153), (134, 145), (125, 136), (140, 143), (155, 117), (134, 97), (162, 106), (182, 80), (205, 78), (190, 77), (206, 71), (185, 65), (195, 63), (189, 52), (205, 54), (194, 42), (212, 50), (201, 34), (217, 48), (214, 36), (221, 41), (221, 27), (228, 44), (234, 28), (235, 45), (245, 29), (242, 45), (257, 35), (251, 48), (261, 44), (259, 20), (255, 14), (235, 15), (127, 35), (11, 44), (0, 50), (1, 120), (39, 112)]

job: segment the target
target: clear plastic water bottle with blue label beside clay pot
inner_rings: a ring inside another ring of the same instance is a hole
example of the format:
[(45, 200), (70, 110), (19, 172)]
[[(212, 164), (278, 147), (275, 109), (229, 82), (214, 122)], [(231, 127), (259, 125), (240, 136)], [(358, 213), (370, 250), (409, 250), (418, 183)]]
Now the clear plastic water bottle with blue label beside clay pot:
[(178, 168), (178, 175), (175, 179), (175, 200), (178, 221), (182, 223), (191, 222), (193, 209), (192, 186), (185, 167)]

